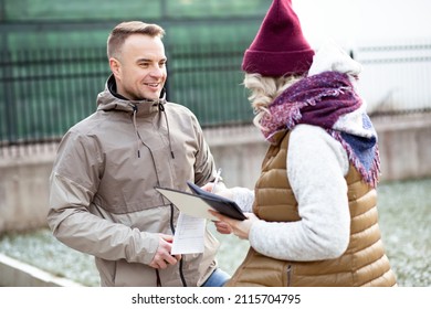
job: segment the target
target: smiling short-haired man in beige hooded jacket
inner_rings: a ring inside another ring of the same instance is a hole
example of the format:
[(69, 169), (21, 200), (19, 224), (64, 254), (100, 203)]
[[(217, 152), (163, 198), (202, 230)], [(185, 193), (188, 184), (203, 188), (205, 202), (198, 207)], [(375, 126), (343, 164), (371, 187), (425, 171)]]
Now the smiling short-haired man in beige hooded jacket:
[(165, 99), (164, 29), (132, 21), (107, 41), (112, 76), (97, 110), (63, 137), (50, 178), (48, 222), (95, 256), (102, 286), (222, 286), (218, 242), (170, 255), (178, 210), (155, 187), (212, 181), (216, 166), (195, 115)]

